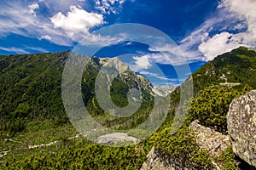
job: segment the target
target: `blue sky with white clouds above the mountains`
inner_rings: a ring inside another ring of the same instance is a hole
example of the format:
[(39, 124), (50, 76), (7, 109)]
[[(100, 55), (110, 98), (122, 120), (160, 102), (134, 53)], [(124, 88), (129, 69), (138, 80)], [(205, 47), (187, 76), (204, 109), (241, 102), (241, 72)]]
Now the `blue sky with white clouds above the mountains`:
[[(189, 71), (183, 71), (177, 79), (176, 67), (189, 65), (193, 72), (233, 48), (255, 48), (255, 8), (254, 0), (3, 0), (0, 54), (73, 50), (82, 40), (88, 44), (112, 42), (111, 47), (103, 48), (97, 55), (114, 57), (130, 53), (127, 63), (132, 69), (155, 84), (167, 81), (177, 85), (188, 77)], [(173, 43), (155, 45), (185, 59), (170, 65), (145, 44), (122, 42), (115, 35), (101, 37), (99, 41), (93, 33), (122, 23), (138, 23), (163, 31)], [(160, 67), (162, 76), (154, 72), (153, 65)]]

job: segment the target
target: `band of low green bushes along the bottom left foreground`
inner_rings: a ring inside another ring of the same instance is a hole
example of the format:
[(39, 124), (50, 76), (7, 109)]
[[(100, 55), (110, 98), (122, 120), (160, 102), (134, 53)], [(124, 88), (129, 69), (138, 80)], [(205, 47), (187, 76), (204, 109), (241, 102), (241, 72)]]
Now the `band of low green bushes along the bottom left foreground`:
[(9, 169), (140, 169), (146, 153), (142, 144), (132, 147), (113, 148), (100, 144), (89, 144), (79, 149), (67, 149), (57, 155), (28, 156), (13, 164), (5, 163)]

